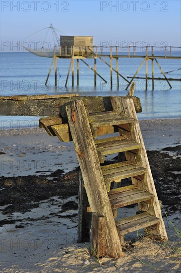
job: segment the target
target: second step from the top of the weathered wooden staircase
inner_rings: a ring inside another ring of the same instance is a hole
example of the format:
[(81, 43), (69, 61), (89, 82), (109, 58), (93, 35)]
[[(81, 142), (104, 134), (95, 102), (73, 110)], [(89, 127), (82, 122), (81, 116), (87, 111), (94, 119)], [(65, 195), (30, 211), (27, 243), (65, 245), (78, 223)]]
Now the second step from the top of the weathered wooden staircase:
[(124, 151), (132, 151), (134, 153), (139, 153), (141, 149), (141, 144), (125, 138), (125, 136), (120, 137), (120, 139), (115, 139), (115, 137), (109, 137), (105, 142), (100, 141), (102, 139), (95, 140), (99, 160), (104, 163), (104, 156), (113, 153), (119, 153)]

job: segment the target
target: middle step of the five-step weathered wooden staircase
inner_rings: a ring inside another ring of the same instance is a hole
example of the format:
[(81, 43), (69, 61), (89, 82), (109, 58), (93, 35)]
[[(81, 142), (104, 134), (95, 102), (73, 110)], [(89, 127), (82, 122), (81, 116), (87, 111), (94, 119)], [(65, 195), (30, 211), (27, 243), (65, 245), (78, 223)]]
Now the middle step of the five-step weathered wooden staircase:
[(138, 175), (146, 174), (147, 169), (138, 166), (137, 164), (123, 164), (124, 162), (120, 162), (120, 165), (118, 163), (116, 164), (116, 167), (111, 167), (111, 164), (109, 165), (110, 169), (102, 169), (104, 181), (105, 183), (110, 182), (120, 182), (121, 179), (129, 178), (129, 177), (135, 177)]

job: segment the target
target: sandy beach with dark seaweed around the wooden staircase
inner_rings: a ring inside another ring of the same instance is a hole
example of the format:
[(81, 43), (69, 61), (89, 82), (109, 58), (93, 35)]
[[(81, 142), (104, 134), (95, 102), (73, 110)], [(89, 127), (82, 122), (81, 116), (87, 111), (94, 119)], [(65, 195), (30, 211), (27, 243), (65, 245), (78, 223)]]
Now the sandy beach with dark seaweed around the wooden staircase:
[[(169, 242), (151, 240), (140, 230), (126, 237), (123, 258), (91, 257), (90, 243), (76, 243), (73, 143), (39, 128), (1, 130), (1, 272), (181, 272), (181, 120), (144, 120), (140, 128)], [(136, 209), (126, 207), (121, 215)]]

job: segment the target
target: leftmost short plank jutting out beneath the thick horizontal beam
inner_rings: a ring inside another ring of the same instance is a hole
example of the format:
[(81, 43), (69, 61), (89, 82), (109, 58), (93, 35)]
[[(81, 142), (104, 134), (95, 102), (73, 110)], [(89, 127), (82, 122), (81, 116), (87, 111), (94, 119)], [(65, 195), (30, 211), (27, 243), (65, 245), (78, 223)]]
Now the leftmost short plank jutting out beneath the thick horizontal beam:
[(61, 123), (62, 123), (62, 120), (59, 116), (40, 118), (39, 127), (40, 128), (43, 127), (47, 131), (49, 136), (56, 136), (56, 134), (52, 130), (51, 126), (61, 124)]

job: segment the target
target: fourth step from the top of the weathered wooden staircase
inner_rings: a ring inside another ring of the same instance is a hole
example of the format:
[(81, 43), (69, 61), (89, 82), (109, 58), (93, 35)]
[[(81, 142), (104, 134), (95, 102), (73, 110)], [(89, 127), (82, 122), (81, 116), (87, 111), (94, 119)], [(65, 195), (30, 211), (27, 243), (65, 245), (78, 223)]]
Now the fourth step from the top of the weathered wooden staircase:
[(152, 194), (148, 192), (141, 192), (134, 195), (125, 196), (120, 199), (113, 199), (110, 202), (113, 208), (119, 208), (122, 206), (132, 205), (132, 204), (136, 204), (142, 201), (152, 200), (152, 199), (153, 199)]

